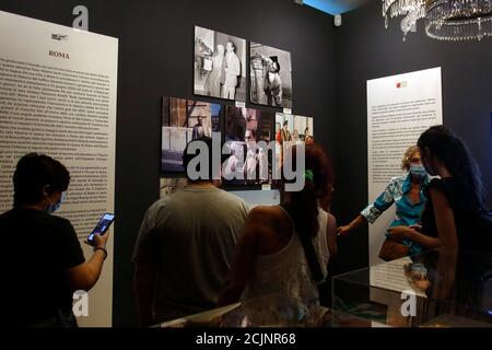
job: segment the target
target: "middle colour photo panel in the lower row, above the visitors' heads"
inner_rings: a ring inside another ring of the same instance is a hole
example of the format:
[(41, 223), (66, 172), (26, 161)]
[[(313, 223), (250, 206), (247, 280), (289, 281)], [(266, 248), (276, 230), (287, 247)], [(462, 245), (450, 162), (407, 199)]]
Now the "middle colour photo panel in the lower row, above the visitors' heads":
[[(226, 185), (261, 185), (271, 183), (274, 115), (251, 108), (225, 107), (225, 142), (231, 156), (223, 163)], [(259, 143), (265, 141), (265, 143)]]

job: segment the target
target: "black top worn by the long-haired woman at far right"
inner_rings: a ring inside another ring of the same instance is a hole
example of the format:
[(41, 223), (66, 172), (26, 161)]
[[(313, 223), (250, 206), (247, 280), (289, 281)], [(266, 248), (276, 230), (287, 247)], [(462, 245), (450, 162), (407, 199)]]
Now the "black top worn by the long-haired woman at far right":
[(482, 213), (478, 205), (454, 177), (434, 178), (425, 187), (424, 195), (429, 200), (422, 212), (422, 231), (429, 236), (438, 236), (431, 188), (443, 192), (449, 201), (455, 217), (459, 248), (492, 253), (492, 233), (484, 231), (481, 225)]

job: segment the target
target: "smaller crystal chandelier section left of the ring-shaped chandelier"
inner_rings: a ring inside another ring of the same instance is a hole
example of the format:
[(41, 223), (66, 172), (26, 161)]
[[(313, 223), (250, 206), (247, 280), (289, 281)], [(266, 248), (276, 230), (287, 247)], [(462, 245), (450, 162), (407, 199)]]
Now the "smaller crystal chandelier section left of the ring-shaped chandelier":
[(391, 19), (405, 16), (400, 23), (405, 42), (407, 33), (415, 25), (417, 21), (425, 16), (425, 0), (383, 0), (385, 28), (388, 28), (388, 15)]

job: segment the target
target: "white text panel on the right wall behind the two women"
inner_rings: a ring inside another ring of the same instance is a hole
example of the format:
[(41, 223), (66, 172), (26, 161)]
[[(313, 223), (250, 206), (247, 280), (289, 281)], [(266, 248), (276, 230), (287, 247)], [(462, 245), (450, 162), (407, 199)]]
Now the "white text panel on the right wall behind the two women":
[[(441, 68), (367, 81), (368, 201), (385, 191), (393, 177), (403, 175), (405, 151), (420, 135), (443, 124)], [(395, 206), (370, 225), (370, 264), (377, 257), (385, 232), (395, 219)]]

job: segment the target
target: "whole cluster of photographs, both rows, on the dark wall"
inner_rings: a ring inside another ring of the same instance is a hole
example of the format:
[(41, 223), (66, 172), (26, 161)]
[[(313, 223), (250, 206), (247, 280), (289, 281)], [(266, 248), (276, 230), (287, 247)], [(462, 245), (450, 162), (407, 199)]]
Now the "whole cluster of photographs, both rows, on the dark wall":
[[(222, 141), (225, 186), (271, 185), (272, 165), (280, 167), (284, 142), (314, 142), (313, 118), (290, 110), (291, 54), (256, 42), (248, 46), (246, 39), (201, 26), (195, 26), (194, 45), (194, 94), (209, 101), (163, 97), (161, 196), (186, 184), (183, 152), (201, 137)], [(247, 95), (249, 103), (270, 109), (247, 107)]]

